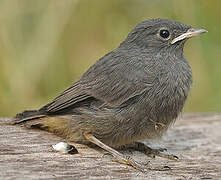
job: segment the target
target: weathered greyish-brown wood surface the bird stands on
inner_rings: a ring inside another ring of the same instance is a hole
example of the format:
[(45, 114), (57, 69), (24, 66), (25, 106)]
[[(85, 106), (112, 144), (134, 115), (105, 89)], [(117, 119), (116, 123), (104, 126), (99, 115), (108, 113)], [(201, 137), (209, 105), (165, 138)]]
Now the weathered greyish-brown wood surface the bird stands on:
[(74, 144), (79, 154), (56, 153), (51, 145), (61, 138), (2, 124), (8, 121), (0, 119), (0, 179), (221, 179), (221, 114), (189, 114), (176, 122), (158, 144), (178, 155), (179, 161), (123, 151), (142, 163), (172, 168), (146, 173), (85, 145)]

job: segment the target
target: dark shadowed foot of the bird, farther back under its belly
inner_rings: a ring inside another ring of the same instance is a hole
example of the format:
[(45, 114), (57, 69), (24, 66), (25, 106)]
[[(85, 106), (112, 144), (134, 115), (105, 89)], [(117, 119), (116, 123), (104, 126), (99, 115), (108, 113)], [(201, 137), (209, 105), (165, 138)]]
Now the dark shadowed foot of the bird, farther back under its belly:
[(163, 153), (164, 151), (167, 151), (165, 148), (160, 148), (160, 149), (152, 149), (149, 146), (145, 145), (144, 143), (141, 142), (135, 142), (132, 144), (132, 146), (129, 146), (130, 148), (133, 148), (137, 151), (143, 152), (144, 154), (155, 158), (155, 156), (171, 159), (171, 160), (178, 160), (179, 158), (176, 155), (173, 154), (166, 154)]

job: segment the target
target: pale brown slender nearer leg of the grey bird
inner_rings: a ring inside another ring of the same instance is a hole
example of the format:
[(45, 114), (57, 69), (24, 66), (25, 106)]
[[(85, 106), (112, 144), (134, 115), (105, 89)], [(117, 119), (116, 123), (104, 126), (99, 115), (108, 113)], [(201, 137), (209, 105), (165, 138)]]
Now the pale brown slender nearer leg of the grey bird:
[(134, 167), (135, 169), (138, 169), (140, 171), (145, 171), (145, 168), (142, 167), (142, 165), (140, 165), (139, 163), (137, 163), (135, 160), (133, 160), (132, 158), (130, 158), (129, 156), (125, 156), (123, 154), (121, 154), (120, 152), (116, 151), (115, 149), (107, 146), (106, 144), (102, 143), (100, 140), (98, 140), (96, 137), (94, 137), (92, 134), (84, 134), (84, 137), (96, 144), (97, 146), (101, 147), (102, 149), (108, 151), (109, 153), (111, 153), (115, 158), (116, 161), (121, 163), (121, 164), (126, 164), (129, 166)]

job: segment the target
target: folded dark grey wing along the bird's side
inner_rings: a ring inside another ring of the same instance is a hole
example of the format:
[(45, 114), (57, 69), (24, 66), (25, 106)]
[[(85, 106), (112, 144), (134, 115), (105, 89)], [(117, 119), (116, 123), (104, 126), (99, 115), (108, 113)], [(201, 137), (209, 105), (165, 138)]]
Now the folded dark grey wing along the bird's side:
[(109, 53), (42, 109), (58, 112), (88, 98), (100, 100), (112, 108), (125, 105), (151, 87), (153, 79), (147, 78), (142, 62), (137, 57)]

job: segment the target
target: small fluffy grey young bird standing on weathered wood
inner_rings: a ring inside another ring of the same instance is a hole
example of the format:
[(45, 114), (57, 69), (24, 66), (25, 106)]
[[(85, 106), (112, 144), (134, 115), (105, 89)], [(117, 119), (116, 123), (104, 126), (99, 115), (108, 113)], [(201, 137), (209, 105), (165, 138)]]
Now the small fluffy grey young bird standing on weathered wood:
[(182, 112), (192, 86), (184, 44), (205, 32), (162, 18), (138, 23), (71, 87), (40, 109), (17, 114), (12, 124), (95, 144), (139, 169), (117, 149), (134, 145), (146, 154), (163, 154), (140, 141), (161, 138)]

